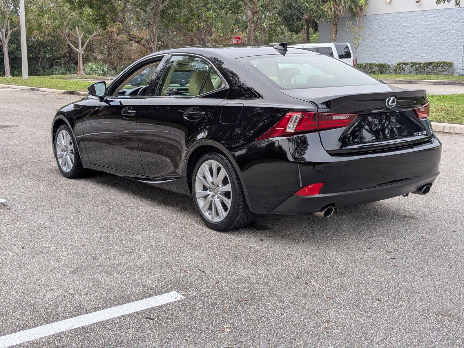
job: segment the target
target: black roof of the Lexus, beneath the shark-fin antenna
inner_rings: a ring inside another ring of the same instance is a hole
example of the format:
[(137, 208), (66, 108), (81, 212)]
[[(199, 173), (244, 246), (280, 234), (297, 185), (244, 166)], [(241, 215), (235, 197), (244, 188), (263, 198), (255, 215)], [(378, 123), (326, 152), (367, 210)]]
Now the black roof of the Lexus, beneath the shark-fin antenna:
[[(187, 46), (174, 48), (169, 50), (159, 51), (155, 54), (161, 53), (196, 53), (196, 54), (210, 54), (210, 53), (222, 53), (232, 56), (233, 58), (243, 58), (251, 56), (262, 56), (269, 54), (279, 54), (277, 51), (270, 45), (199, 45), (199, 46)], [(319, 54), (311, 51), (303, 51), (299, 48), (293, 48), (288, 46), (287, 54)]]

